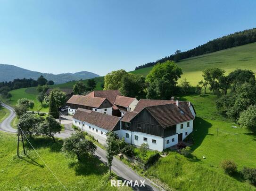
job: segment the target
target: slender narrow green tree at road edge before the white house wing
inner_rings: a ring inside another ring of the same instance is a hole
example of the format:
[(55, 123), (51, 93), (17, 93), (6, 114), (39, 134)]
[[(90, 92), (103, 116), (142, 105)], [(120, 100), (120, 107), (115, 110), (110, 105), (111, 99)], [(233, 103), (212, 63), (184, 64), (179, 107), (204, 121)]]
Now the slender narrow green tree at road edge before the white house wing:
[(106, 140), (106, 152), (107, 152), (107, 166), (109, 168), (109, 174), (111, 173), (111, 166), (113, 157), (118, 153), (118, 137), (113, 131), (107, 132)]

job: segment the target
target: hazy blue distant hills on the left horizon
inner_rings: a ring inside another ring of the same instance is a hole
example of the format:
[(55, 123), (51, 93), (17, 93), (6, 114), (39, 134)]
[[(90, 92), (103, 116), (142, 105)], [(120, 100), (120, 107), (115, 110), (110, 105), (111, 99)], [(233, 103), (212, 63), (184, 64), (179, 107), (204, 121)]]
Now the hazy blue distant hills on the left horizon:
[(54, 81), (55, 84), (63, 84), (66, 82), (70, 82), (73, 80), (80, 79), (89, 79), (94, 77), (99, 77), (98, 74), (94, 74), (92, 72), (82, 71), (76, 73), (65, 73), (65, 74), (48, 74), (35, 72), (28, 69), (23, 69), (17, 66), (8, 65), (8, 64), (0, 64), (0, 82), (9, 82), (13, 79), (17, 78), (33, 78), (37, 79), (39, 76), (44, 76), (47, 80)]

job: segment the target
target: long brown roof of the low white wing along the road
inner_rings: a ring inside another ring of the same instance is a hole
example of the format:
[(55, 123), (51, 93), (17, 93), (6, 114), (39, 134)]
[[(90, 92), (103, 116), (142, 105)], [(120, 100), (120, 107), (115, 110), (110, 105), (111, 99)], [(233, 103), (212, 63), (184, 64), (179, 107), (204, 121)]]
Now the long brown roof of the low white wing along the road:
[(113, 130), (119, 122), (120, 117), (102, 114), (96, 111), (78, 108), (73, 115), (74, 119), (82, 122), (88, 122), (105, 130)]

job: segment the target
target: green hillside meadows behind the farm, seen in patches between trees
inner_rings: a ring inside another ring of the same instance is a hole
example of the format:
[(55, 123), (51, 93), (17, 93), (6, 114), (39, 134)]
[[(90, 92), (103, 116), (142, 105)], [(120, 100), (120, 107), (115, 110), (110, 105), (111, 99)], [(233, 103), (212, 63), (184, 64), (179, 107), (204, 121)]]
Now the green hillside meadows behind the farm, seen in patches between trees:
[[(196, 85), (202, 79), (202, 70), (208, 67), (220, 67), (226, 70), (226, 73), (233, 71), (234, 69), (251, 69), (256, 72), (256, 43), (238, 46), (230, 49), (225, 49), (215, 53), (204, 54), (196, 56), (190, 59), (185, 59), (177, 63), (183, 71), (183, 75), (180, 80), (186, 78), (191, 85)], [(152, 67), (137, 69), (131, 71), (133, 74), (140, 74), (146, 76)], [(104, 83), (104, 76), (95, 77), (97, 87), (95, 90), (102, 90), (102, 84)], [(86, 82), (87, 80), (84, 80)], [(75, 82), (68, 82), (65, 84), (52, 85), (51, 88), (72, 88)], [(40, 103), (36, 100), (36, 87), (23, 88), (11, 91), (13, 98), (9, 104), (14, 105), (17, 99), (27, 97), (35, 101), (34, 110), (40, 109)], [(8, 100), (6, 100), (8, 102)], [(42, 111), (47, 109), (43, 108)]]

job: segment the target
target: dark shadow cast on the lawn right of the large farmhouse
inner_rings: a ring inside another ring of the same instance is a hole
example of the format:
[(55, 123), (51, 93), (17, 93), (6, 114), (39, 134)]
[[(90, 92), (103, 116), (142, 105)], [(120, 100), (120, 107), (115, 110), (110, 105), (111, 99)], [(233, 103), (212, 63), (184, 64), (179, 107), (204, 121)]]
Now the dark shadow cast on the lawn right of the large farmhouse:
[[(212, 127), (212, 124), (206, 122), (200, 117), (196, 117), (193, 125), (193, 138), (195, 139), (194, 144), (191, 146), (192, 150), (196, 150), (208, 135), (208, 129)], [(211, 134), (210, 134), (211, 135)]]

